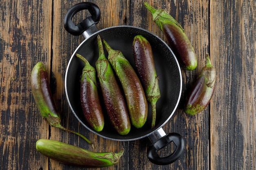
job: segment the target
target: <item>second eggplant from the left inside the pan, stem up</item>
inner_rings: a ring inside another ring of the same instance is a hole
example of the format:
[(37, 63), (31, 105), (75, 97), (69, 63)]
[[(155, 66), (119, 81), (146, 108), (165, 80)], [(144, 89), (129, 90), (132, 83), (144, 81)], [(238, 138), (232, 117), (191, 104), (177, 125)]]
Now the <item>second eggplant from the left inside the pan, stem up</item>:
[(130, 118), (124, 95), (117, 83), (115, 74), (108, 59), (105, 57), (101, 37), (98, 35), (99, 58), (96, 61), (96, 70), (103, 95), (104, 104), (112, 126), (120, 135), (130, 132)]

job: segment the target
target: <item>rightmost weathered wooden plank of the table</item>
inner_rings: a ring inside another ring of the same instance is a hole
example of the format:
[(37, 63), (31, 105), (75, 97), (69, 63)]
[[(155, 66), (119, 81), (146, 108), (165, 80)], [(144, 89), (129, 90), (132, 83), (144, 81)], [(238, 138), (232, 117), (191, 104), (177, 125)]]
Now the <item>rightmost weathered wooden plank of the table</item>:
[(256, 3), (211, 1), (211, 169), (256, 169)]

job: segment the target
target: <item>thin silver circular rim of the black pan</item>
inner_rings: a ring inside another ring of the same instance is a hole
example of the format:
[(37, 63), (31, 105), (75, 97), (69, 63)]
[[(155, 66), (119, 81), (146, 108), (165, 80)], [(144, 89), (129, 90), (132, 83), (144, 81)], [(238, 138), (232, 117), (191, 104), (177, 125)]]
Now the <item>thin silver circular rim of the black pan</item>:
[[(180, 91), (179, 91), (179, 96), (177, 98), (177, 102), (175, 104), (175, 107), (173, 108), (173, 111), (172, 113), (170, 114), (170, 116), (164, 121), (164, 123), (159, 126), (158, 128), (154, 129), (152, 132), (149, 132), (147, 133), (146, 135), (142, 135), (140, 137), (134, 137), (134, 138), (129, 138), (129, 139), (116, 139), (116, 138), (111, 138), (111, 137), (107, 137), (107, 136), (104, 136), (104, 135), (101, 135), (99, 133), (97, 133), (96, 131), (92, 130), (90, 127), (88, 127), (87, 125), (85, 125), (83, 123), (83, 121), (81, 121), (81, 119), (76, 115), (74, 109), (72, 108), (72, 105), (71, 105), (71, 102), (70, 102), (70, 99), (69, 99), (69, 95), (68, 95), (68, 91), (67, 91), (67, 74), (68, 74), (68, 70), (69, 70), (69, 67), (70, 67), (70, 64), (72, 62), (72, 59), (73, 57), (75, 56), (75, 53), (76, 51), (79, 50), (79, 48), (90, 38), (92, 37), (93, 35), (95, 34), (98, 34), (102, 31), (105, 31), (105, 30), (108, 30), (108, 29), (113, 29), (113, 28), (124, 28), (124, 27), (129, 27), (129, 28), (133, 28), (133, 29), (139, 29), (141, 31), (146, 31), (147, 33), (151, 34), (152, 36), (155, 36), (155, 38), (159, 39), (167, 48), (169, 51), (171, 51), (174, 59), (175, 59), (175, 62), (177, 64), (177, 68), (179, 70), (179, 75), (180, 75)], [(111, 27), (108, 27), (108, 28), (105, 28), (105, 29), (101, 29), (99, 31), (96, 31), (95, 33), (93, 33), (92, 35), (90, 35), (88, 38), (85, 38), (85, 40), (83, 40), (83, 42), (81, 42), (79, 44), (79, 46), (77, 46), (76, 50), (72, 53), (72, 56), (70, 57), (70, 60), (67, 64), (67, 68), (66, 68), (66, 72), (65, 72), (65, 82), (64, 82), (64, 85), (65, 85), (65, 95), (66, 95), (66, 99), (67, 99), (67, 102), (70, 106), (70, 109), (72, 111), (72, 113), (74, 114), (74, 116), (76, 117), (76, 119), (78, 119), (78, 121), (86, 128), (88, 129), (90, 132), (93, 132), (94, 134), (98, 135), (99, 137), (103, 137), (105, 139), (110, 139), (110, 140), (113, 140), (113, 141), (134, 141), (134, 140), (138, 140), (138, 139), (142, 139), (144, 137), (148, 137), (152, 134), (154, 134), (155, 132), (157, 132), (157, 130), (159, 130), (160, 128), (162, 128), (170, 119), (171, 117), (173, 116), (173, 114), (175, 113), (175, 111), (177, 110), (177, 107), (179, 105), (179, 102), (180, 102), (180, 98), (181, 98), (181, 95), (182, 95), (182, 73), (181, 73), (181, 68), (180, 68), (180, 65), (179, 65), (179, 62), (175, 56), (175, 54), (173, 53), (173, 51), (171, 50), (171, 48), (168, 46), (168, 44), (166, 44), (166, 42), (164, 42), (164, 40), (162, 40), (161, 38), (159, 38), (157, 35), (151, 33), (150, 31), (146, 30), (146, 29), (143, 29), (143, 28), (140, 28), (140, 27), (137, 27), (137, 26), (128, 26), (128, 25), (119, 25), (119, 26), (111, 26)]]

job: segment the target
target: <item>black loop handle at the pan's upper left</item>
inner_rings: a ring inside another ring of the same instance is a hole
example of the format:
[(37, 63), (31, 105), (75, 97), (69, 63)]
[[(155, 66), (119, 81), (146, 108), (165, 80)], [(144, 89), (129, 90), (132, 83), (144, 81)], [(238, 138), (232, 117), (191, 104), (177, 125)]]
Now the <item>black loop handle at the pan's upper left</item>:
[[(85, 18), (79, 24), (75, 25), (72, 21), (73, 16), (79, 11), (88, 9), (92, 16)], [(101, 18), (99, 7), (91, 2), (81, 2), (71, 7), (64, 18), (64, 28), (72, 35), (81, 35), (85, 30), (94, 24), (98, 24)]]

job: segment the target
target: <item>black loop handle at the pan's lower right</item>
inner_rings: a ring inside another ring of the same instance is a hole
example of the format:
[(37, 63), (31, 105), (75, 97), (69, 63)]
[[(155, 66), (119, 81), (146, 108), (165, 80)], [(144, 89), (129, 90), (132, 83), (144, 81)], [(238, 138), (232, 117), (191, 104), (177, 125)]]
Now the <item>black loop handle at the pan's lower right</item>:
[[(166, 157), (159, 157), (157, 154), (157, 151), (164, 148), (168, 144), (171, 144), (173, 142), (176, 146), (176, 149), (171, 155), (168, 155)], [(148, 159), (157, 165), (168, 165), (176, 161), (180, 155), (182, 154), (184, 150), (184, 139), (180, 134), (177, 133), (169, 133), (165, 135), (164, 137), (161, 137), (158, 139), (154, 144), (152, 144), (148, 150)]]

